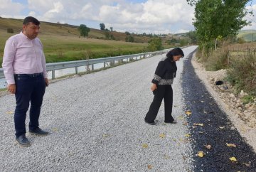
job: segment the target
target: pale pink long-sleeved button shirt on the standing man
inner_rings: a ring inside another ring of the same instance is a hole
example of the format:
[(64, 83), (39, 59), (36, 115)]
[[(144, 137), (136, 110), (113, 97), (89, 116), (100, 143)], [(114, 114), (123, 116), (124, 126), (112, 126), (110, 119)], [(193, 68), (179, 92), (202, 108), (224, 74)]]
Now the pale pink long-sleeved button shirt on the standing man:
[(11, 36), (4, 47), (2, 67), (8, 84), (15, 84), (14, 74), (43, 72), (47, 78), (46, 58), (39, 38), (29, 39), (22, 32)]

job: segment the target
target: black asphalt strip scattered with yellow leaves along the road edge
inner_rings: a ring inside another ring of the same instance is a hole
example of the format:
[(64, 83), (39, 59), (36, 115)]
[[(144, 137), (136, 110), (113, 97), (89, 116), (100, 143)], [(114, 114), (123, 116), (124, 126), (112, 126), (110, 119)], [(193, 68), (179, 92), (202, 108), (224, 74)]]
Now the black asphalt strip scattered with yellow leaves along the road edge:
[[(256, 171), (256, 154), (240, 136), (227, 114), (213, 100), (191, 64), (193, 53), (184, 61), (182, 86), (193, 146), (194, 171)], [(194, 124), (203, 124), (195, 126)], [(228, 147), (235, 144), (236, 147)], [(210, 145), (207, 149), (204, 145)], [(205, 156), (196, 156), (203, 151)], [(235, 157), (237, 161), (230, 161)]]

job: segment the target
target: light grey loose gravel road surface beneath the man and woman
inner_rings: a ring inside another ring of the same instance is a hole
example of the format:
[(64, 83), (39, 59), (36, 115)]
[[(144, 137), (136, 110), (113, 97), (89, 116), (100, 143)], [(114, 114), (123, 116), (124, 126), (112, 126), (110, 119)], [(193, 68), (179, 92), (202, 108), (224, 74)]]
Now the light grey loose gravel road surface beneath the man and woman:
[[(194, 49), (184, 48), (185, 57)], [(0, 171), (191, 171), (181, 87), (186, 58), (177, 62), (173, 85), (178, 124), (164, 124), (164, 104), (156, 126), (144, 122), (153, 100), (151, 78), (163, 57), (52, 83), (40, 119), (50, 134), (26, 134), (28, 148), (14, 141), (14, 95), (0, 97)]]

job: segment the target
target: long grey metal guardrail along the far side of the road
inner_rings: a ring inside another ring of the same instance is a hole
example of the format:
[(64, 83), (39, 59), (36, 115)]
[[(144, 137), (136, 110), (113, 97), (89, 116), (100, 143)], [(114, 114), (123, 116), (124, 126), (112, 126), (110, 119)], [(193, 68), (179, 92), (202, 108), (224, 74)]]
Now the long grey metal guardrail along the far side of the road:
[[(168, 50), (161, 50), (156, 52), (149, 52), (149, 53), (139, 53), (139, 54), (133, 54), (133, 55), (122, 55), (122, 56), (116, 56), (116, 57), (110, 57), (110, 58), (95, 58), (90, 60), (77, 60), (77, 61), (69, 61), (69, 62), (60, 62), (60, 63), (46, 63), (46, 70), (52, 71), (52, 79), (55, 79), (55, 70), (61, 70), (66, 68), (75, 68), (75, 73), (78, 73), (78, 67), (80, 66), (86, 66), (86, 65), (92, 65), (92, 70), (94, 70), (94, 65), (97, 63), (104, 63), (104, 68), (106, 67), (105, 64), (108, 62), (114, 62), (117, 60), (124, 60), (126, 59), (127, 62), (130, 61), (130, 59), (138, 60), (138, 58), (149, 58), (154, 55), (160, 55), (167, 53)], [(3, 68), (0, 68), (0, 79), (4, 78), (4, 70)]]

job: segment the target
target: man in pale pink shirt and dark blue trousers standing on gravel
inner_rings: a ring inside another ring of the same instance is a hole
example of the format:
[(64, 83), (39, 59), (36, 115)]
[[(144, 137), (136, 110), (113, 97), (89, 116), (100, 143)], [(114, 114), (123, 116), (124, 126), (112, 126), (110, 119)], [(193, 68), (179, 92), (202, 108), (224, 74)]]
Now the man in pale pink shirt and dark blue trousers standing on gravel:
[(26, 138), (26, 112), (29, 103), (29, 132), (47, 135), (39, 128), (39, 115), (43, 95), (48, 86), (46, 58), (38, 36), (40, 22), (31, 16), (23, 20), (23, 31), (11, 36), (4, 48), (3, 68), (8, 91), (15, 94), (14, 124), (16, 141), (21, 146), (31, 146)]

